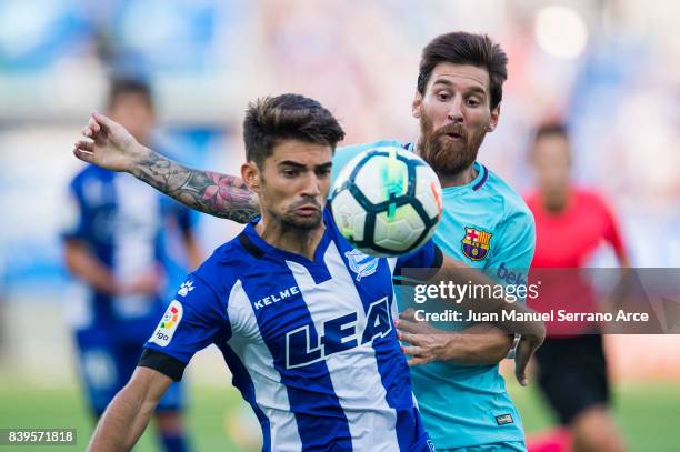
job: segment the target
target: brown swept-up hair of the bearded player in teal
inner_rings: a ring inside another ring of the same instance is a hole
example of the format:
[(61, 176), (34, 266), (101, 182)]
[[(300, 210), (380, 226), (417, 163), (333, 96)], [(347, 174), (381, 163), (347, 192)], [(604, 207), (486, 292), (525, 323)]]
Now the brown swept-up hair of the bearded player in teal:
[(434, 67), (441, 62), (471, 64), (489, 72), (490, 107), (493, 110), (503, 98), (503, 82), (508, 79), (508, 56), (487, 34), (456, 31), (438, 36), (422, 49), (418, 92), (424, 96)]

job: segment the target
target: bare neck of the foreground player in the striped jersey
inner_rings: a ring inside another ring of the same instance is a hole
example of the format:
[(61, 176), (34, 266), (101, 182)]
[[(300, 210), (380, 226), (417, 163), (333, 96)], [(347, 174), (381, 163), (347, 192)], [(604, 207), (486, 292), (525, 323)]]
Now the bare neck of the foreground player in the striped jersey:
[(314, 229), (300, 229), (273, 219), (262, 212), (262, 220), (256, 225), (258, 234), (270, 245), (280, 250), (290, 251), (314, 260), (314, 252), (326, 225), (321, 222)]

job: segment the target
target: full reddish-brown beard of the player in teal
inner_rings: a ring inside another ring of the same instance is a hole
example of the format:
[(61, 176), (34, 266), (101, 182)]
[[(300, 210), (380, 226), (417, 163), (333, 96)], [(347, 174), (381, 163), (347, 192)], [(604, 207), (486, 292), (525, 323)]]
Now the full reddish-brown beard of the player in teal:
[[(487, 135), (486, 123), (471, 134), (460, 124), (448, 124), (437, 130), (423, 110), (420, 111), (420, 157), (440, 175), (456, 175), (477, 160), (477, 152)], [(456, 133), (459, 141), (451, 141), (447, 134)]]

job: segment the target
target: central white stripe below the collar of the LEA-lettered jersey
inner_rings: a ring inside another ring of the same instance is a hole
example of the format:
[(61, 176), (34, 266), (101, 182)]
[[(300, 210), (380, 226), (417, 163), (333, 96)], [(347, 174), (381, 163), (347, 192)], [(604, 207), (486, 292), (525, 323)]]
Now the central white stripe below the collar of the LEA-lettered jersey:
[[(327, 320), (356, 312), (356, 339), (360, 343), (367, 323), (366, 312), (352, 275), (333, 242), (329, 244), (323, 260), (331, 278), (320, 284), (314, 282), (304, 265), (292, 261), (286, 263), (300, 288), (319, 337), (324, 334), (323, 323)], [(369, 304), (374, 301), (378, 300), (370, 300)], [(349, 421), (352, 449), (398, 451), (397, 413), (387, 403), (372, 344), (359, 345), (348, 353), (331, 354), (326, 358), (326, 364)]]

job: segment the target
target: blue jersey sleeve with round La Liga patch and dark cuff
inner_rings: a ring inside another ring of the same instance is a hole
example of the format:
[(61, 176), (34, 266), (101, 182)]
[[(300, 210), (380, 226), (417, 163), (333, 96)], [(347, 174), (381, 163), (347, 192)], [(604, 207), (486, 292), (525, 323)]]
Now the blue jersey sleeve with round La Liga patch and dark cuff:
[(221, 338), (226, 339), (226, 311), (211, 284), (197, 272), (191, 273), (144, 344), (147, 351), (138, 365), (180, 380), (183, 368), (194, 353)]

